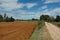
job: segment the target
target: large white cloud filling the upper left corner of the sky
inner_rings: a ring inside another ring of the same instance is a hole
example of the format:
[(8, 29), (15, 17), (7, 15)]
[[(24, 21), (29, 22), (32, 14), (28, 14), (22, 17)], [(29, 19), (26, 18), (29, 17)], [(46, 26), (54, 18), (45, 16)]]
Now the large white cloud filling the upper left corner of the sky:
[(0, 0), (0, 7), (3, 7), (5, 10), (12, 10), (16, 8), (23, 8), (24, 4), (17, 4), (17, 0)]

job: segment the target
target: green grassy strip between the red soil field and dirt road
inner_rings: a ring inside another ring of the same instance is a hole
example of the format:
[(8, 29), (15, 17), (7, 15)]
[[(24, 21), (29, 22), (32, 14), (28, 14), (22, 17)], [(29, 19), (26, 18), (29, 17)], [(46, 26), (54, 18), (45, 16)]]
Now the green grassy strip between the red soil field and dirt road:
[(40, 29), (44, 26), (44, 21), (39, 21), (38, 27), (33, 32), (30, 40), (40, 40), (39, 33)]

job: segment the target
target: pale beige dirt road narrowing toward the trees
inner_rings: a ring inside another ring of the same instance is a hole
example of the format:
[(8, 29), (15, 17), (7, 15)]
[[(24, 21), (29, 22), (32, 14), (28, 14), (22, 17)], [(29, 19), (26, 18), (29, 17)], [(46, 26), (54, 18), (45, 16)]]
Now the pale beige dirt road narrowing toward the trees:
[(60, 28), (58, 28), (57, 26), (55, 26), (51, 23), (47, 23), (47, 22), (45, 22), (45, 25), (46, 25), (48, 32), (50, 33), (52, 39), (60, 40)]

